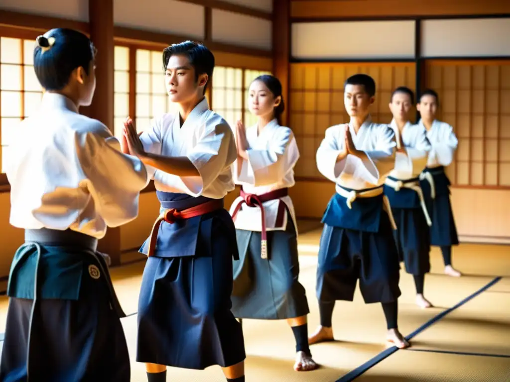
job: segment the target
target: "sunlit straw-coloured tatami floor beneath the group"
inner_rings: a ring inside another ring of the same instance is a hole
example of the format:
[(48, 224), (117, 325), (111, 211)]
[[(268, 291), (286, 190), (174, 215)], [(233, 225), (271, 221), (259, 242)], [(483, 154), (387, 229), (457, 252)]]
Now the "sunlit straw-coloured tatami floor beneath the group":
[[(310, 228), (312, 225), (310, 224)], [(315, 297), (315, 273), (320, 230), (300, 234), (300, 281), (304, 285), (311, 313), (309, 330), (319, 323)], [(425, 278), (425, 295), (435, 308), (420, 309), (415, 304), (413, 278), (402, 270), (399, 298), (399, 327), (404, 335), (415, 332), (438, 314), (455, 306), (483, 288), (495, 276), (503, 277), (487, 291), (448, 313), (414, 338), (414, 349), (398, 350), (356, 380), (373, 381), (506, 381), (503, 368), (510, 358), (457, 355), (448, 352), (509, 354), (510, 351), (510, 256), (501, 245), (462, 244), (453, 251), (453, 262), (466, 273), (461, 278), (443, 274), (440, 252), (432, 250), (432, 272)], [(112, 268), (112, 278), (122, 307), (129, 317), (122, 319), (132, 361), (132, 380), (146, 381), (145, 367), (135, 362), (138, 292), (143, 262)], [(7, 299), (0, 298), (0, 332), (5, 328)], [(334, 382), (385, 351), (386, 322), (380, 304), (365, 305), (356, 291), (354, 302), (338, 302), (333, 316), (336, 342), (312, 346), (321, 364), (313, 372), (295, 372), (294, 339), (285, 321), (244, 320), (247, 382)], [(503, 347), (506, 345), (506, 350)], [(430, 352), (435, 351), (435, 352)], [(437, 353), (444, 351), (446, 353)], [(398, 361), (398, 362), (397, 362)], [(449, 369), (449, 365), (451, 370)], [(506, 366), (505, 366), (506, 365)], [(464, 370), (464, 369), (465, 370)], [(416, 372), (413, 370), (417, 370)], [(452, 371), (453, 370), (453, 371)], [(479, 374), (475, 374), (478, 372)], [(492, 373), (492, 374), (491, 374)], [(492, 376), (492, 379), (489, 378)], [(495, 376), (497, 376), (496, 379)], [(367, 379), (368, 378), (368, 379)], [(489, 378), (489, 379), (488, 379)], [(169, 368), (169, 381), (224, 382), (221, 369), (204, 371)], [(343, 378), (342, 380), (347, 380)]]

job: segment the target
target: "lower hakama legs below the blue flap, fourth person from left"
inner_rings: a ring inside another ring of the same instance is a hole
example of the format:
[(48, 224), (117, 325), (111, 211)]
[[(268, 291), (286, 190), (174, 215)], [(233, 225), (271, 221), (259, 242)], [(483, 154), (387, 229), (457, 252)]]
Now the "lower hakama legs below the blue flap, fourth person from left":
[(392, 235), (386, 212), (380, 214), (378, 232), (324, 224), (317, 267), (319, 301), (352, 301), (358, 279), (365, 303), (397, 301), (400, 265)]

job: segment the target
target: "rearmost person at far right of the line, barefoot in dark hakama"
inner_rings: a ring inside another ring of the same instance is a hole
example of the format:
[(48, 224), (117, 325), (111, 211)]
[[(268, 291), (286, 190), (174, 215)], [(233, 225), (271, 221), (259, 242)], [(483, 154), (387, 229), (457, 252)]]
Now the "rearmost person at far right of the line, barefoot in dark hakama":
[(432, 221), (430, 244), (441, 248), (445, 274), (459, 277), (461, 272), (451, 264), (451, 247), (458, 245), (458, 236), (451, 209), (450, 180), (445, 173), (445, 167), (453, 160), (458, 141), (453, 127), (436, 119), (438, 107), (438, 94), (430, 89), (425, 90), (417, 105), (421, 116), (418, 125), (425, 129), (432, 148), (428, 155), (427, 167), (423, 171), (421, 187)]

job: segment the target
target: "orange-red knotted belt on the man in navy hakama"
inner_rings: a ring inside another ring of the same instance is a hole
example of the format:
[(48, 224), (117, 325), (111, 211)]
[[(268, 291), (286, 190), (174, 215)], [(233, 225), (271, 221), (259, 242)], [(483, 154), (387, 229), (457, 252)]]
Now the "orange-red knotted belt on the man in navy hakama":
[(169, 208), (164, 210), (154, 222), (149, 236), (149, 248), (147, 257), (154, 256), (156, 250), (156, 242), (158, 241), (158, 232), (161, 223), (167, 222), (169, 224), (175, 223), (181, 219), (191, 219), (195, 216), (205, 215), (206, 213), (214, 212), (223, 208), (223, 199), (213, 199), (209, 202), (199, 204), (194, 207), (177, 210), (176, 208)]

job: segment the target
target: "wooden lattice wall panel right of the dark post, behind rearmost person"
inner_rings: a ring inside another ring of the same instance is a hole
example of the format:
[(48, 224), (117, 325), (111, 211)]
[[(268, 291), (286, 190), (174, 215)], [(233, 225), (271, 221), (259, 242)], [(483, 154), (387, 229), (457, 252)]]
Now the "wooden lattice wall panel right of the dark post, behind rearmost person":
[(438, 119), (458, 139), (447, 168), (458, 186), (510, 186), (510, 60), (425, 61), (426, 87), (438, 92)]

